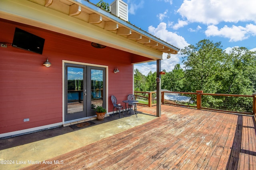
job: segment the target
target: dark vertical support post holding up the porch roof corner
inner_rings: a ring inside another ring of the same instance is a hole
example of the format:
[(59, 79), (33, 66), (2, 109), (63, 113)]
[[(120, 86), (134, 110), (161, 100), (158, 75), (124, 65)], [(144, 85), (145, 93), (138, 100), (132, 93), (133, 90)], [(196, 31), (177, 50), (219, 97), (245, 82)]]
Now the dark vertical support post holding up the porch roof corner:
[(156, 116), (161, 117), (161, 60), (156, 61), (156, 77), (160, 79), (160, 81), (156, 82)]

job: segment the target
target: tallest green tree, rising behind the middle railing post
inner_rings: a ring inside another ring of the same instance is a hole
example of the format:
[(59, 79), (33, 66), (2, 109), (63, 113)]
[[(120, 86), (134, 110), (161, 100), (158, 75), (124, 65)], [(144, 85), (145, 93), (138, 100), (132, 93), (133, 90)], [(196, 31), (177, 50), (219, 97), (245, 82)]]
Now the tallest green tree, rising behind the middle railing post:
[(220, 88), (220, 74), (224, 52), (220, 42), (213, 43), (208, 39), (199, 41), (196, 46), (189, 45), (181, 50), (187, 59), (185, 64), (185, 90), (187, 92), (215, 93)]

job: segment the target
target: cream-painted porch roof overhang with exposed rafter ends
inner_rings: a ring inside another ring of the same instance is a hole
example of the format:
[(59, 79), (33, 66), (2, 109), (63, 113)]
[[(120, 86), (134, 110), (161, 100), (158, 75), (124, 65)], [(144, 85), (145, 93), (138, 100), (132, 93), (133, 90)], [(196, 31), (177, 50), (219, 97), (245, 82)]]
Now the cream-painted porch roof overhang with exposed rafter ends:
[[(179, 49), (87, 0), (4, 0), (0, 17), (141, 55), (151, 61)], [(147, 61), (150, 61), (147, 60)]]

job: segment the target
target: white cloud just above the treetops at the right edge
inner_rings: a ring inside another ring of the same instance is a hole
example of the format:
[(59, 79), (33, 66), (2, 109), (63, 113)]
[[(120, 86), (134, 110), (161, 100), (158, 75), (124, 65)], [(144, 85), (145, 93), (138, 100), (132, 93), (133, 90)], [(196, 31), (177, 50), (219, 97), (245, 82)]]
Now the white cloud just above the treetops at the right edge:
[(229, 38), (229, 41), (242, 41), (250, 37), (250, 35), (256, 35), (256, 25), (248, 24), (246, 27), (235, 26), (228, 27), (225, 25), (224, 27), (218, 29), (215, 25), (209, 25), (207, 30), (205, 31), (207, 37), (210, 36), (220, 36)]

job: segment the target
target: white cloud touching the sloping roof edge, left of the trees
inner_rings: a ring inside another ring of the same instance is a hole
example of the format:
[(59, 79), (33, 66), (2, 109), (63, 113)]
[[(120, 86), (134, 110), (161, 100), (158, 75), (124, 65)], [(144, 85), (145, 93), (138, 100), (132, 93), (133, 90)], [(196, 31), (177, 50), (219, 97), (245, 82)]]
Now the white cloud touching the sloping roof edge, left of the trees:
[(162, 39), (163, 41), (166, 41), (167, 43), (170, 43), (171, 45), (174, 45), (175, 47), (182, 49), (189, 44), (186, 42), (184, 37), (177, 35), (176, 33), (170, 32), (166, 29), (166, 23), (161, 22), (157, 28), (153, 26), (148, 27), (148, 32), (152, 35)]

